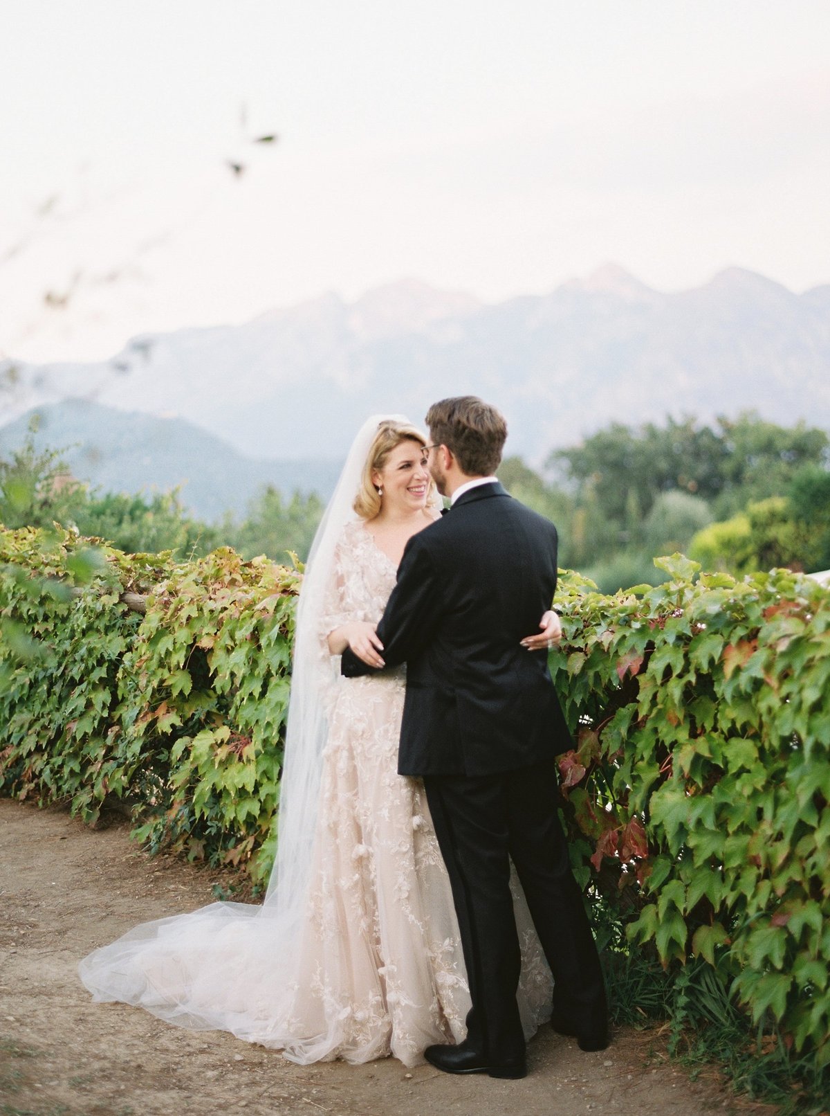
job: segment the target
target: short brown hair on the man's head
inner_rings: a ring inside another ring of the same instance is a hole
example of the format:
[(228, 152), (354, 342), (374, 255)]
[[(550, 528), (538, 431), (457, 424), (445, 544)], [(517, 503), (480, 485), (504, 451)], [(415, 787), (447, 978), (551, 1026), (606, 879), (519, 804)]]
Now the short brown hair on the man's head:
[(499, 468), (508, 424), (477, 395), (455, 395), (426, 412), (430, 441), (451, 450), (467, 477), (489, 477)]

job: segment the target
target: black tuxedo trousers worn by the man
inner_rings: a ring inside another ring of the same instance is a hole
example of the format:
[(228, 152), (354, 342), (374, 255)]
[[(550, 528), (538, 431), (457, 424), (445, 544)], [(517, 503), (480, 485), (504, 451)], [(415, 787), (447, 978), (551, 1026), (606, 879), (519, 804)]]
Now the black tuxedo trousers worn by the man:
[(556, 760), (489, 776), (427, 775), (424, 786), (459, 916), (470, 1043), (491, 1058), (524, 1051), (511, 859), (553, 973), (557, 1011), (579, 1033), (604, 1032), (605, 983), (559, 822)]

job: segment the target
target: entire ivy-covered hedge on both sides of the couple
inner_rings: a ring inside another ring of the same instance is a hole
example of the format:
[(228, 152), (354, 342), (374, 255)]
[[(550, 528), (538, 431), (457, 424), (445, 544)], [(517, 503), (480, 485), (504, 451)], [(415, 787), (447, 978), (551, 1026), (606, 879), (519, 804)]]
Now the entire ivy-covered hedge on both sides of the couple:
[[(786, 570), (604, 596), (564, 574), (551, 670), (575, 870), (666, 966), (702, 959), (794, 1051), (830, 1064), (830, 594)], [(91, 549), (0, 531), (0, 791), (107, 796), (151, 849), (262, 879), (299, 575), (222, 549)], [(141, 615), (126, 593), (146, 595)]]

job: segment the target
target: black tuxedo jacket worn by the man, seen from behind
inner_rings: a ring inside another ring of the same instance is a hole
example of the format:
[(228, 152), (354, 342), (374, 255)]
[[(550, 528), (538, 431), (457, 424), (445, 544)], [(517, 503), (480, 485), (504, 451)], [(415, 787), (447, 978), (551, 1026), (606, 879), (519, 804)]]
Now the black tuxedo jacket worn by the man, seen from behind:
[[(557, 530), (499, 483), (462, 493), (413, 536), (378, 635), (406, 663), (400, 775), (494, 775), (572, 747), (539, 629), (557, 587)], [(375, 673), (350, 648), (347, 677)]]

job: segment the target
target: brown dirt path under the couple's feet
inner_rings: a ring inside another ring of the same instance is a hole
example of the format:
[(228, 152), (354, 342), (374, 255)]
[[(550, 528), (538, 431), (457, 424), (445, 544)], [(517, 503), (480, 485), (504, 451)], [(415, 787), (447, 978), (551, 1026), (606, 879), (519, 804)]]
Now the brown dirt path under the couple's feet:
[(658, 1035), (622, 1031), (582, 1054), (549, 1028), (521, 1081), (366, 1066), (295, 1066), (230, 1035), (94, 1004), (78, 960), (137, 922), (212, 901), (216, 874), (149, 859), (123, 822), (93, 831), (58, 809), (0, 799), (2, 1116), (703, 1116), (765, 1112), (714, 1076), (691, 1083)]

